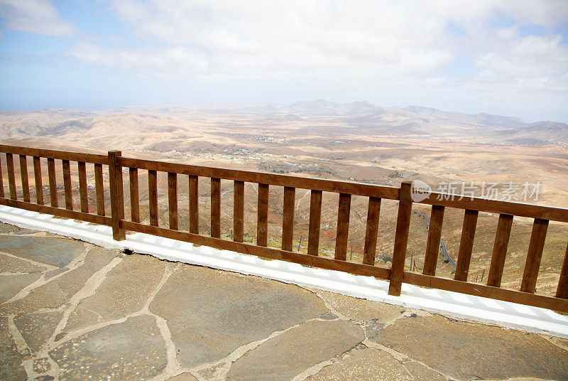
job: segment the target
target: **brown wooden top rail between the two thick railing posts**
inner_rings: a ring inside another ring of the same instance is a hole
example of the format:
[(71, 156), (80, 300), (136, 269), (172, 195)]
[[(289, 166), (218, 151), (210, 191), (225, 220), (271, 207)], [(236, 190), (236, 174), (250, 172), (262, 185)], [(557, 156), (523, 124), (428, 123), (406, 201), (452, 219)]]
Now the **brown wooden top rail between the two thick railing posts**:
[(209, 178), (223, 178), (225, 180), (246, 181), (249, 183), (261, 183), (272, 186), (288, 186), (291, 188), (311, 189), (314, 191), (349, 193), (351, 195), (364, 195), (368, 197), (388, 198), (391, 200), (398, 200), (398, 195), (400, 193), (400, 188), (391, 186), (376, 186), (373, 184), (327, 180), (324, 178), (308, 178), (267, 172), (240, 171), (236, 169), (167, 163), (164, 161), (133, 159), (124, 156), (120, 156), (118, 158), (118, 164), (119, 166), (149, 169), (151, 171), (173, 172)]

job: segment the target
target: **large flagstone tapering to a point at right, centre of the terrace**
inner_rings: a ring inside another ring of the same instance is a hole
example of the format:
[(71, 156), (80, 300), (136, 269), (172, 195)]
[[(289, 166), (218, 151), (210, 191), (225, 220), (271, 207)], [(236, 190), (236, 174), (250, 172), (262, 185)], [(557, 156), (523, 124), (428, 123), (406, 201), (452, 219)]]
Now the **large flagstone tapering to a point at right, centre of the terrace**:
[(195, 266), (176, 269), (150, 309), (168, 321), (185, 367), (220, 360), (327, 312), (320, 298), (298, 286)]

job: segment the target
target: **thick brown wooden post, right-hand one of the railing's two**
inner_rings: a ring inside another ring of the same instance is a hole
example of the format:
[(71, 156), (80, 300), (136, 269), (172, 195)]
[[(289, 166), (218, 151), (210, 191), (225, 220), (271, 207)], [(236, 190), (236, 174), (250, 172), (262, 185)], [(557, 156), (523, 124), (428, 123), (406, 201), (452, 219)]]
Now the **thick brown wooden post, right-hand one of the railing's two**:
[(410, 181), (405, 181), (400, 184), (393, 264), (391, 265), (391, 279), (388, 285), (388, 294), (393, 296), (400, 296), (400, 288), (403, 284), (406, 246), (408, 245), (408, 228), (410, 227), (410, 214), (413, 210), (413, 199), (410, 193), (411, 188), (412, 183), (410, 183)]

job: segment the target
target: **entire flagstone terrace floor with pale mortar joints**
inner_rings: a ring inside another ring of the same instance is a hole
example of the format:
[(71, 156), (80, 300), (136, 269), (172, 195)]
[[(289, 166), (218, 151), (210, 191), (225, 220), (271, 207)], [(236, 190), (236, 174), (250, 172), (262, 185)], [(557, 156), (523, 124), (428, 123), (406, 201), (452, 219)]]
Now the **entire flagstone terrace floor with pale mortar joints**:
[(568, 380), (568, 340), (0, 224), (0, 380)]

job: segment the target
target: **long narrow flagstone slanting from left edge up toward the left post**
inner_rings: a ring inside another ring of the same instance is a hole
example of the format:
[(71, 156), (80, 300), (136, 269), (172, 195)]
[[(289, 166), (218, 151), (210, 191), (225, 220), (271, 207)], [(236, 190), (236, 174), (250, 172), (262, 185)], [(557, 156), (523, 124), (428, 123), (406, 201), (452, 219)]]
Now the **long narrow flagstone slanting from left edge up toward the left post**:
[(109, 264), (117, 255), (118, 251), (93, 247), (87, 253), (84, 264), (38, 286), (22, 299), (0, 305), (0, 315), (31, 313), (40, 308), (58, 308), (82, 289), (92, 274)]

